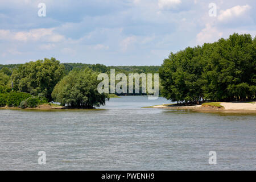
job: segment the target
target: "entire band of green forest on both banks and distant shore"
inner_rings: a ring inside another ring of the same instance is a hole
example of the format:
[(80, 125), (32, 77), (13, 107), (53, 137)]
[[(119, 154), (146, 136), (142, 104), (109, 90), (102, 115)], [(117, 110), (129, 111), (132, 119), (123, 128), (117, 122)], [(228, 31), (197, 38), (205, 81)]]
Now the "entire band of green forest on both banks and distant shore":
[(97, 75), (110, 75), (110, 69), (127, 76), (159, 73), (160, 94), (178, 104), (255, 100), (256, 37), (233, 34), (187, 47), (171, 52), (162, 66), (61, 64), (55, 58), (0, 65), (0, 106), (26, 108), (51, 101), (77, 108), (104, 105), (109, 95), (97, 92)]

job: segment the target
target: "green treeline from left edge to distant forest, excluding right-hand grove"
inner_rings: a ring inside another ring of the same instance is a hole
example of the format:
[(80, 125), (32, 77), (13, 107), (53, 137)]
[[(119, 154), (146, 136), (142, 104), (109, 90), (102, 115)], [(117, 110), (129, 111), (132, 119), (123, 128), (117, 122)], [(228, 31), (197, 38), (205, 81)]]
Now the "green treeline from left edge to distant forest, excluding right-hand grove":
[[(26, 108), (51, 101), (77, 108), (105, 105), (109, 95), (98, 93), (97, 86), (101, 81), (97, 80), (97, 76), (100, 73), (107, 73), (110, 78), (110, 69), (115, 69), (115, 75), (125, 73), (128, 77), (129, 73), (154, 73), (158, 71), (159, 67), (60, 64), (60, 61), (55, 58), (30, 61), (17, 66), (3, 65), (0, 70), (0, 106)], [(139, 85), (141, 88), (142, 83), (140, 82)]]

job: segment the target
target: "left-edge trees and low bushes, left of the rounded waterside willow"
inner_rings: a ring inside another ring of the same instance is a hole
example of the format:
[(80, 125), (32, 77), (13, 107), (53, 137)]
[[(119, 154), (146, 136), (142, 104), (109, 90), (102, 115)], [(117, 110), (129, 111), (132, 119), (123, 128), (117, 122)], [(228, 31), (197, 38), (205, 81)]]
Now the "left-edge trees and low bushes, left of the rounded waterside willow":
[[(10, 65), (8, 65), (10, 66)], [(52, 91), (64, 77), (59, 61), (44, 59), (0, 70), (0, 106), (36, 107), (52, 101)]]

